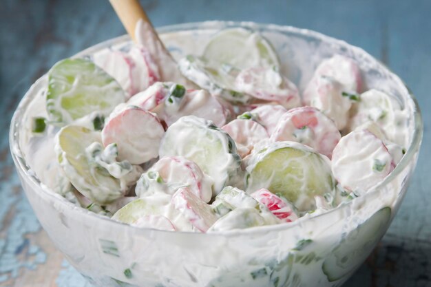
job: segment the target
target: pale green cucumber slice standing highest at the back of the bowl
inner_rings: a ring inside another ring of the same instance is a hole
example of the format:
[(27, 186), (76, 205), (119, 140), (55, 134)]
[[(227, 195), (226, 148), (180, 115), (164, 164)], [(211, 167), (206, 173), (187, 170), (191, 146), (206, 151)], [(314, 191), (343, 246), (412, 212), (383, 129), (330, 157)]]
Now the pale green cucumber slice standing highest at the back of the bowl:
[(261, 34), (244, 28), (222, 30), (215, 34), (202, 56), (240, 69), (280, 65), (271, 44)]

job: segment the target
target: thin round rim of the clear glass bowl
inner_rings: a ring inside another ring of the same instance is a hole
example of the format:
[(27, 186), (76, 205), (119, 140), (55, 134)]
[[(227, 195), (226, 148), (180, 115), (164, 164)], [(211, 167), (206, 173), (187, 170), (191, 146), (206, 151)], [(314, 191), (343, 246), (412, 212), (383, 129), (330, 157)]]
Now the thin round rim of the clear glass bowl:
[[(288, 26), (288, 25), (275, 25), (275, 24), (267, 24), (267, 23), (238, 22), (238, 21), (204, 21), (204, 22), (183, 23), (183, 24), (176, 24), (176, 25), (166, 25), (166, 26), (157, 28), (156, 30), (159, 34), (165, 34), (165, 33), (180, 32), (180, 31), (186, 31), (186, 30), (200, 30), (200, 29), (211, 29), (211, 28), (212, 29), (238, 28), (238, 27), (252, 28), (254, 30), (270, 30), (270, 31), (274, 31), (274, 32), (290, 32), (292, 34), (299, 34), (300, 36), (303, 36), (303, 37), (306, 36), (306, 37), (309, 37), (311, 39), (317, 39), (319, 41), (338, 43), (340, 45), (344, 45), (344, 46), (348, 47), (349, 50), (356, 50), (357, 53), (363, 54), (364, 56), (368, 56), (371, 59), (373, 59), (374, 61), (379, 62), (377, 59), (370, 56), (370, 54), (368, 54), (366, 51), (364, 51), (360, 47), (350, 45), (350, 44), (346, 43), (345, 41), (338, 40), (338, 39), (335, 39), (335, 38), (330, 37), (330, 36), (326, 36), (324, 34), (321, 34), (319, 32), (315, 32), (313, 30), (295, 28), (293, 26)], [(88, 47), (87, 49), (82, 50), (81, 52), (78, 52), (78, 54), (75, 54), (74, 57), (82, 56), (85, 54), (90, 54), (93, 51), (101, 49), (102, 47), (106, 47), (108, 45), (115, 45), (117, 43), (123, 43), (125, 41), (130, 41), (130, 37), (128, 35), (118, 36), (116, 38), (109, 39), (107, 41), (103, 41), (101, 43), (98, 43), (96, 45)], [(413, 110), (413, 114), (412, 114), (413, 120), (414, 120), (414, 131), (413, 131), (412, 142), (411, 142), (410, 146), (408, 147), (406, 154), (403, 156), (401, 162), (399, 162), (399, 164), (397, 164), (397, 167), (395, 167), (395, 169), (390, 173), (390, 175), (388, 177), (386, 177), (382, 182), (377, 184), (372, 190), (368, 191), (368, 193), (366, 193), (366, 195), (361, 196), (361, 198), (365, 198), (365, 199), (367, 197), (370, 197), (372, 193), (378, 193), (379, 190), (381, 189), (381, 187), (384, 187), (386, 184), (389, 184), (392, 180), (394, 180), (399, 175), (399, 173), (401, 173), (401, 171), (403, 171), (403, 169), (408, 167), (410, 162), (412, 162), (412, 160), (414, 160), (414, 155), (417, 153), (417, 151), (419, 151), (419, 148), (421, 146), (422, 136), (423, 136), (423, 121), (422, 121), (421, 111), (420, 111), (419, 105), (417, 103), (417, 99), (414, 97), (414, 95), (412, 94), (410, 89), (408, 89), (406, 84), (404, 84), (403, 81), (401, 81), (399, 76), (397, 76), (395, 73), (391, 72), (388, 69), (388, 67), (386, 67), (386, 65), (384, 65), (383, 63), (381, 63), (381, 62), (379, 62), (379, 63), (386, 70), (388, 70), (389, 74), (392, 74), (392, 76), (395, 78), (395, 81), (399, 81), (399, 83), (401, 83), (401, 85), (406, 87), (406, 89), (408, 90), (408, 94), (410, 95), (410, 99), (412, 100), (412, 102), (414, 104), (414, 110)], [(45, 76), (45, 75), (43, 75), (43, 76)], [(43, 76), (41, 76), (41, 78)], [(38, 81), (39, 81), (39, 79), (38, 79)], [(30, 91), (30, 89), (28, 90), (28, 92), (29, 91)], [(28, 98), (28, 92), (25, 93), (25, 95), (21, 99), (17, 109), (14, 111), (14, 114), (12, 116), (12, 120), (10, 123), (9, 143), (10, 143), (10, 151), (12, 153), (12, 159), (14, 160), (15, 167), (17, 169), (19, 169), (19, 171), (22, 171), (22, 174), (24, 174), (30, 180), (30, 182), (32, 183), (32, 186), (33, 186), (32, 188), (34, 190), (37, 190), (39, 192), (45, 193), (45, 195), (50, 196), (52, 198), (52, 200), (56, 201), (56, 204), (60, 204), (61, 206), (64, 206), (65, 208), (69, 208), (69, 209), (74, 208), (76, 206), (74, 204), (72, 204), (71, 202), (68, 202), (67, 200), (65, 200), (65, 198), (62, 198), (61, 196), (56, 195), (56, 193), (54, 193), (54, 191), (47, 191), (46, 190), (47, 187), (42, 187), (41, 181), (38, 178), (36, 178), (34, 173), (32, 173), (32, 171), (30, 170), (30, 167), (25, 162), (25, 159), (22, 156), (19, 156), (22, 154), (20, 147), (19, 147), (19, 124), (20, 124), (19, 120), (22, 118), (23, 113), (25, 112), (26, 108), (28, 107), (28, 105), (30, 104), (30, 102), (32, 100), (32, 98)], [(14, 151), (16, 151), (16, 149), (19, 149), (18, 153), (14, 152)], [(355, 200), (351, 200), (350, 202), (346, 202), (343, 205), (345, 206), (346, 204), (353, 204), (353, 202), (355, 202)], [(310, 219), (317, 220), (317, 218), (319, 218), (319, 217), (329, 216), (330, 213), (337, 211), (337, 209), (339, 209), (339, 208), (340, 208), (340, 206), (338, 206), (337, 208), (332, 209), (326, 213), (316, 215)], [(83, 212), (85, 214), (85, 216), (96, 217), (97, 220), (107, 221), (107, 223), (109, 222), (108, 224), (119, 224), (121, 226), (126, 225), (126, 226), (129, 226), (129, 228), (140, 229), (143, 232), (151, 231), (151, 232), (156, 232), (156, 233), (171, 234), (174, 236), (176, 233), (183, 233), (183, 234), (187, 233), (190, 236), (205, 236), (205, 237), (207, 237), (207, 236), (220, 236), (220, 235), (222, 235), (225, 237), (230, 237), (230, 236), (235, 236), (235, 235), (244, 235), (244, 233), (255, 234), (255, 233), (259, 233), (259, 232), (266, 233), (266, 232), (286, 231), (289, 228), (293, 228), (293, 226), (296, 226), (297, 224), (301, 224), (301, 222), (302, 222), (302, 220), (298, 220), (298, 221), (291, 222), (288, 224), (275, 224), (275, 225), (260, 226), (260, 227), (255, 227), (255, 228), (246, 228), (246, 229), (242, 229), (242, 230), (230, 231), (227, 233), (190, 233), (190, 232), (183, 232), (183, 231), (175, 231), (175, 232), (160, 231), (160, 230), (154, 229), (154, 228), (138, 228), (136, 226), (131, 226), (131, 225), (125, 224), (123, 222), (116, 222), (114, 220), (111, 220), (109, 217), (98, 215), (98, 214), (93, 213), (91, 211), (87, 211), (86, 209), (81, 209), (78, 212)], [(305, 220), (308, 220), (308, 219), (305, 219)]]

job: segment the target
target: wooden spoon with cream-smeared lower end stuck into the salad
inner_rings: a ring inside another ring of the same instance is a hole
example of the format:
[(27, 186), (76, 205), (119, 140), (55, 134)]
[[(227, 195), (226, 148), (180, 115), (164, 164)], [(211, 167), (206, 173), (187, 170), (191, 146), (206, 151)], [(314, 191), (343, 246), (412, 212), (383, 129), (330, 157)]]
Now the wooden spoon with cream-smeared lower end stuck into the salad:
[(186, 87), (196, 87), (182, 76), (176, 61), (160, 41), (156, 30), (138, 0), (109, 0), (127, 33), (138, 45), (147, 48), (158, 66), (160, 81), (175, 82)]

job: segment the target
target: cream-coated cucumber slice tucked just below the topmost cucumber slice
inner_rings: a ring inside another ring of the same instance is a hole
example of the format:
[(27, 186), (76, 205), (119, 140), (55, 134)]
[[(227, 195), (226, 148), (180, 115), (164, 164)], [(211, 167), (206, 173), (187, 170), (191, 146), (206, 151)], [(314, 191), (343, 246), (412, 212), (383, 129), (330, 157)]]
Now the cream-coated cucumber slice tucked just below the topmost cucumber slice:
[(205, 61), (196, 56), (187, 56), (178, 62), (180, 72), (213, 96), (221, 96), (232, 103), (247, 103), (250, 96), (235, 91), (235, 68), (217, 61)]

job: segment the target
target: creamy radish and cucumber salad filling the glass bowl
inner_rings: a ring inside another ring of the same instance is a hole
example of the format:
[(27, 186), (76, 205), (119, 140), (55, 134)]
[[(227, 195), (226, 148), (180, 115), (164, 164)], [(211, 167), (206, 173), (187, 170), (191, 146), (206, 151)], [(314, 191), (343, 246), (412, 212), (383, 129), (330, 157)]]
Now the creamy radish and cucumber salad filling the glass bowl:
[(401, 105), (366, 89), (346, 56), (322, 61), (303, 91), (244, 28), (180, 59), (180, 74), (165, 62), (136, 44), (56, 63), (31, 119), (30, 148), (54, 146), (43, 184), (118, 222), (215, 233), (335, 209), (406, 152)]

